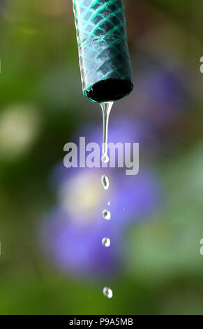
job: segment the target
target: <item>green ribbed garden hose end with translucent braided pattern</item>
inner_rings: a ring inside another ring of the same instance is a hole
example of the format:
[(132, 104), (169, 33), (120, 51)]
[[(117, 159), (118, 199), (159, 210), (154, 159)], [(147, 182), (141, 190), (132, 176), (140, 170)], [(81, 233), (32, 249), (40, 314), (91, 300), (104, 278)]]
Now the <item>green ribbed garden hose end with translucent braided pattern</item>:
[(73, 0), (84, 96), (113, 102), (133, 90), (123, 0)]

